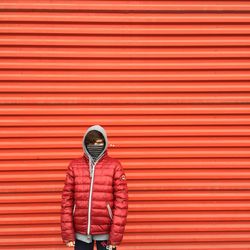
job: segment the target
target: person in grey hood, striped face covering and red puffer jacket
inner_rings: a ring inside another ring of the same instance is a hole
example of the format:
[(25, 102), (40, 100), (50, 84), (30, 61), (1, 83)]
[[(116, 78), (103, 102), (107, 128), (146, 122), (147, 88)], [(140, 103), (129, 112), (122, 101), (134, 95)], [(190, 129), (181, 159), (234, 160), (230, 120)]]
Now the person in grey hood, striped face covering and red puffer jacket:
[(61, 199), (61, 236), (76, 250), (113, 249), (123, 239), (128, 214), (127, 178), (120, 161), (108, 154), (101, 125), (90, 126), (84, 154), (70, 161)]

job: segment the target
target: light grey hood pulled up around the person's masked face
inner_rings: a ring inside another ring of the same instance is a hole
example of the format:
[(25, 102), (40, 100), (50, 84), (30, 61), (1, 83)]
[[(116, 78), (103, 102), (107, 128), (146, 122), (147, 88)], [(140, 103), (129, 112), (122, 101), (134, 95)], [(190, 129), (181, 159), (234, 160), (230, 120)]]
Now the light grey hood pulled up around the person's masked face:
[(90, 160), (90, 162), (93, 164), (94, 163), (94, 160), (92, 158), (92, 156), (89, 154), (88, 150), (87, 150), (87, 147), (85, 145), (85, 138), (87, 136), (87, 134), (92, 131), (92, 130), (97, 130), (99, 132), (102, 133), (103, 137), (104, 137), (104, 140), (105, 140), (105, 147), (103, 149), (103, 151), (100, 153), (100, 155), (98, 156), (98, 158), (96, 159), (96, 162), (105, 154), (107, 153), (107, 148), (108, 148), (108, 136), (107, 136), (107, 133), (106, 133), (106, 130), (104, 129), (104, 127), (102, 127), (101, 125), (97, 124), (97, 125), (93, 125), (93, 126), (90, 126), (84, 136), (83, 136), (83, 139), (82, 139), (82, 147), (83, 147), (83, 151), (84, 151), (84, 154), (88, 157), (88, 159)]

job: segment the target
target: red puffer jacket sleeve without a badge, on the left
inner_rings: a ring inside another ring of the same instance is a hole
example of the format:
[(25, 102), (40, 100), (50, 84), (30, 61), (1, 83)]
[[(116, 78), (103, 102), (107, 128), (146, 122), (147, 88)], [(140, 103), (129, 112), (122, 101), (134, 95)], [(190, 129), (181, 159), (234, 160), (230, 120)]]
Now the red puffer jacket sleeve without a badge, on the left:
[(71, 161), (68, 165), (61, 197), (61, 236), (64, 243), (75, 240), (73, 221), (74, 184)]

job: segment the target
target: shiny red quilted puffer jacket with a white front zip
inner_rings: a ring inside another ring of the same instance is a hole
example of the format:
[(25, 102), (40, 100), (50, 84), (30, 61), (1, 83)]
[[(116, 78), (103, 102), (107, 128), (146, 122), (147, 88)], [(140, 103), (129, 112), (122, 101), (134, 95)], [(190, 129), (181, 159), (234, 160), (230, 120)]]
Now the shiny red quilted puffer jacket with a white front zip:
[(63, 242), (74, 241), (76, 232), (109, 233), (108, 244), (119, 245), (128, 213), (128, 187), (123, 167), (106, 150), (95, 166), (92, 189), (91, 179), (85, 153), (69, 163), (61, 202)]

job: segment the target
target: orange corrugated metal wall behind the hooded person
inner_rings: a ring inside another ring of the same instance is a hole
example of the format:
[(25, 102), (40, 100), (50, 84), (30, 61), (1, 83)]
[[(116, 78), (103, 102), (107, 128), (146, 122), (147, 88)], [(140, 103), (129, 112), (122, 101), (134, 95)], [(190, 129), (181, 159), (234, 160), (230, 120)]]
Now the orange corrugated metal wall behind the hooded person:
[(0, 249), (67, 249), (92, 124), (124, 165), (120, 250), (250, 249), (250, 2), (0, 3)]

